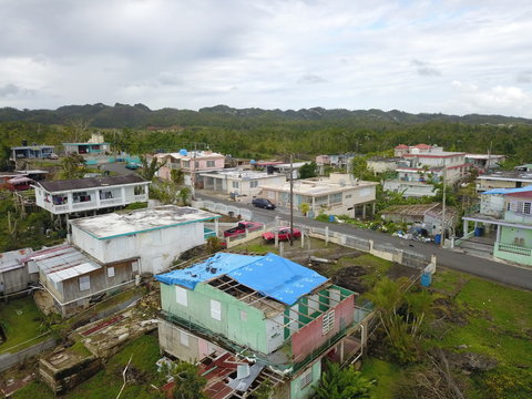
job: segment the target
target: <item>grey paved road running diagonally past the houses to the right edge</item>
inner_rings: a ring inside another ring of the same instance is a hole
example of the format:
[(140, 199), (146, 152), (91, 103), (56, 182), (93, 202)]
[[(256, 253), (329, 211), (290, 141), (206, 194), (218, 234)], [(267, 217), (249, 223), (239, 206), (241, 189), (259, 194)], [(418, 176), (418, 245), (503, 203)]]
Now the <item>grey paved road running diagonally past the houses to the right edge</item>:
[[(280, 216), (284, 219), (288, 218), (286, 209), (266, 211), (256, 208), (249, 204), (235, 204), (235, 202), (232, 201), (224, 201), (201, 193), (197, 193), (196, 196), (204, 200), (226, 203), (227, 205), (237, 205), (253, 209), (253, 218), (256, 222), (269, 223), (275, 219), (275, 216)], [(294, 223), (320, 228), (328, 226), (329, 231), (332, 232), (349, 234), (366, 239), (374, 239), (376, 243), (386, 243), (399, 249), (408, 249), (423, 254), (427, 258), (430, 258), (430, 255), (436, 254), (438, 257), (438, 265), (440, 266), (470, 273), (499, 283), (532, 289), (532, 268), (516, 267), (477, 256), (461, 254), (451, 249), (443, 249), (431, 243), (406, 241), (380, 232), (357, 228), (352, 225), (324, 223), (307, 217), (294, 217)]]

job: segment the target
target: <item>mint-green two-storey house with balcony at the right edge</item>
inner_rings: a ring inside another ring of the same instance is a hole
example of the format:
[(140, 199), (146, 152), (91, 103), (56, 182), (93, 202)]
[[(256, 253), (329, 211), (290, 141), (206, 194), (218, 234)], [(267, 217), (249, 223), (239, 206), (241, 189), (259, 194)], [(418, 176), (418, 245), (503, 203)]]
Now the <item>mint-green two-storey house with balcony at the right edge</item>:
[(480, 213), (462, 219), (464, 241), (494, 231), (490, 242), (494, 257), (532, 266), (532, 186), (487, 191)]

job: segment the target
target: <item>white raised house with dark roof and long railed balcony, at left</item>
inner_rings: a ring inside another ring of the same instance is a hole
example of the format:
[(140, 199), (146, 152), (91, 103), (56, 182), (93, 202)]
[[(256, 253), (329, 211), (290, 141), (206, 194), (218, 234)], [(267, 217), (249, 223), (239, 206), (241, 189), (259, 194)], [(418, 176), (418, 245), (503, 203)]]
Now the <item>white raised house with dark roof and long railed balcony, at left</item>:
[(110, 212), (146, 203), (149, 185), (135, 174), (37, 182), (35, 204), (54, 215)]

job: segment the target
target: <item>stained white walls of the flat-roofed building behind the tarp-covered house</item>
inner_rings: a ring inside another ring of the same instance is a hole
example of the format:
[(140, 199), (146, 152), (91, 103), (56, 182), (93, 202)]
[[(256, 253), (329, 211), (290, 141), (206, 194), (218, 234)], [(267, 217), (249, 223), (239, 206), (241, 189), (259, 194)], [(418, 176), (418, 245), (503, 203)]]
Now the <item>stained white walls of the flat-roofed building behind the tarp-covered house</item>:
[(172, 265), (183, 252), (202, 245), (204, 223), (158, 228), (134, 235), (98, 239), (72, 226), (72, 242), (102, 263), (140, 257), (141, 273), (158, 273)]

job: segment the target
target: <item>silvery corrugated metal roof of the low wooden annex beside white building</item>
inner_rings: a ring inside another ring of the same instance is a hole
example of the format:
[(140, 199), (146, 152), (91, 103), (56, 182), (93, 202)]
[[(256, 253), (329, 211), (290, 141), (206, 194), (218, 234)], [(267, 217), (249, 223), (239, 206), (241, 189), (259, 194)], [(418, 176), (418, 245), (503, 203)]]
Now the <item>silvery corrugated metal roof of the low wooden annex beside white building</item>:
[(31, 254), (28, 259), (37, 263), (52, 282), (63, 282), (96, 270), (102, 266), (71, 245), (58, 245)]

